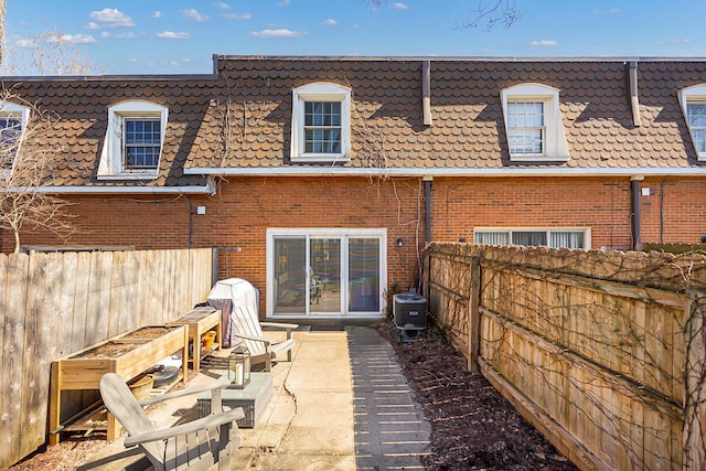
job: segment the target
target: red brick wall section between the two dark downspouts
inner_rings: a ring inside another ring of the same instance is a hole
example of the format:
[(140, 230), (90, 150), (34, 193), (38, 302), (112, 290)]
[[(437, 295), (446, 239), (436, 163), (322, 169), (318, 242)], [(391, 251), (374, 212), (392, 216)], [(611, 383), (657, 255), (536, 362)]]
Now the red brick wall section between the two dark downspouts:
[(590, 227), (593, 248), (631, 245), (628, 178), (437, 179), (432, 185), (435, 240), (472, 242), (475, 227)]

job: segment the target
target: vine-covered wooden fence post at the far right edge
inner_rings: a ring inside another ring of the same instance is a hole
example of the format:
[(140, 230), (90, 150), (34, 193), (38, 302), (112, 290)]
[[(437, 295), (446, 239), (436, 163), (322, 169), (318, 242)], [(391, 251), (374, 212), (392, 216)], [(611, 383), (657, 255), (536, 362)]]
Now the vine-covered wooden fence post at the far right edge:
[(706, 467), (706, 297), (689, 291), (685, 328), (686, 342), (686, 404), (684, 408), (684, 469)]

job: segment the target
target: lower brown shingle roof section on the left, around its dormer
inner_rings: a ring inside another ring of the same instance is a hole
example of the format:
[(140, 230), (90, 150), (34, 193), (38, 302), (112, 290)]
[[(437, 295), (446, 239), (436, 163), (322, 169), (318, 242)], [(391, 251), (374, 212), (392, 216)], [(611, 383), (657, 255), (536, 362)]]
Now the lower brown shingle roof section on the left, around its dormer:
[[(205, 178), (184, 175), (183, 167), (207, 109), (213, 81), (125, 79), (17, 79), (2, 86), (33, 103), (58, 121), (28, 146), (55, 149), (54, 185), (182, 186), (204, 185)], [(146, 181), (105, 182), (96, 171), (106, 137), (108, 107), (129, 99), (145, 99), (169, 107), (169, 122), (159, 176)]]

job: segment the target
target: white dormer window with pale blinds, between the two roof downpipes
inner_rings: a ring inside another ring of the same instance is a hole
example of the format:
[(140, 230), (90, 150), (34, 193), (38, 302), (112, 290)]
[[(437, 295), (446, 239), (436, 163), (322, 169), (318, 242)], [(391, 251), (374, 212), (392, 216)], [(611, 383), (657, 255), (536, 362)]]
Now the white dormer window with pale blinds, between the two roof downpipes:
[(511, 160), (569, 159), (556, 88), (523, 84), (503, 89), (500, 96)]

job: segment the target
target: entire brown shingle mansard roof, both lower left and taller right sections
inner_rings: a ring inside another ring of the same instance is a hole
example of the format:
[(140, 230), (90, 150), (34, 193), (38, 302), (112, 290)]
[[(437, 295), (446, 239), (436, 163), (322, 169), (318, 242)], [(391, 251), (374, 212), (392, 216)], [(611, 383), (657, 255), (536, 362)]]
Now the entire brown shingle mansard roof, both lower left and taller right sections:
[[(44, 143), (61, 147), (56, 182), (100, 182), (96, 169), (107, 108), (127, 99), (169, 107), (159, 178), (151, 185), (203, 185), (205, 168), (285, 169), (292, 89), (331, 82), (352, 89), (352, 158), (364, 169), (641, 169), (698, 165), (677, 90), (706, 83), (705, 61), (642, 61), (635, 127), (622, 61), (430, 58), (434, 125), (421, 121), (422, 58), (218, 57), (217, 77), (31, 79), (29, 101), (61, 116)], [(509, 158), (500, 92), (539, 83), (559, 89), (570, 159), (553, 164)]]

